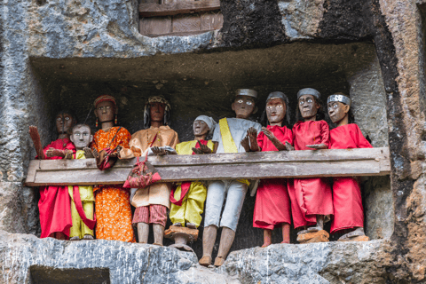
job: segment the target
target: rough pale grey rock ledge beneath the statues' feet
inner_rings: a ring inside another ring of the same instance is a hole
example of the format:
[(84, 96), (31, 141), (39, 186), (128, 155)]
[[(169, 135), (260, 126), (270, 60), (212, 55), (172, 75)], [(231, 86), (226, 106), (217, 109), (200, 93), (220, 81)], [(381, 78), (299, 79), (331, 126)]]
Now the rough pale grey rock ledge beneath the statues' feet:
[(0, 232), (2, 283), (384, 283), (387, 241), (272, 245), (205, 268), (188, 252)]

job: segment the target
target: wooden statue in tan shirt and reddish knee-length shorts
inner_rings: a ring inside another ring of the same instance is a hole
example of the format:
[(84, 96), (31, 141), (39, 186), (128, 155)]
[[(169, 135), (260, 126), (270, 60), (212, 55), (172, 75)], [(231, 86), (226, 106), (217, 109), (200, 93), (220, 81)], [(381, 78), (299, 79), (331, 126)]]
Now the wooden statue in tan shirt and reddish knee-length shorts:
[[(176, 154), (174, 148), (179, 143), (177, 132), (167, 125), (170, 109), (169, 101), (161, 96), (147, 99), (144, 111), (146, 130), (139, 130), (131, 136), (130, 149), (123, 148), (120, 159), (146, 154)], [(170, 208), (170, 191), (170, 183), (155, 183), (133, 190), (130, 201), (136, 210), (132, 222), (138, 226), (140, 243), (148, 242), (149, 225), (153, 225), (154, 244), (162, 246), (167, 209)]]

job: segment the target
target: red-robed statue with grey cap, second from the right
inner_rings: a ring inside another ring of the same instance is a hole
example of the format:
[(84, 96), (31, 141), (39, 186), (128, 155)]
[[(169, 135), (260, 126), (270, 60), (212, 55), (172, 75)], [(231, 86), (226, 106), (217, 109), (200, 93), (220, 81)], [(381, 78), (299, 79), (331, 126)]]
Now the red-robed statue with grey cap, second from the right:
[[(296, 119), (302, 116), (293, 127), (296, 150), (327, 149), (329, 128), (323, 118), (319, 91), (306, 88), (297, 93)], [(328, 233), (323, 230), (324, 222), (333, 215), (331, 188), (326, 177), (294, 178), (288, 183), (292, 216), (295, 228), (313, 225), (298, 233), (297, 241), (328, 241)]]

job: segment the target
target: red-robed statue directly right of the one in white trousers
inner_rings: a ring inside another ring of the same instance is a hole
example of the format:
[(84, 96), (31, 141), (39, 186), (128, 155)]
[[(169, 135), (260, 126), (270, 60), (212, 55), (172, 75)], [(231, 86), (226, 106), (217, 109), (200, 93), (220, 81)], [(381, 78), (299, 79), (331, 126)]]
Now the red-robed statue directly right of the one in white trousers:
[[(287, 96), (280, 91), (270, 93), (266, 99), (264, 114), (269, 122), (267, 127), (263, 127), (258, 135), (254, 128), (250, 128), (248, 136), (241, 142), (246, 152), (287, 150), (286, 143), (293, 144), (293, 133), (282, 125), (290, 122)], [(251, 142), (250, 146), (248, 141)], [(272, 230), (278, 227), (282, 229), (281, 243), (290, 243), (290, 211), (287, 178), (261, 180), (256, 193), (253, 226), (264, 229), (262, 248), (271, 245)]]

